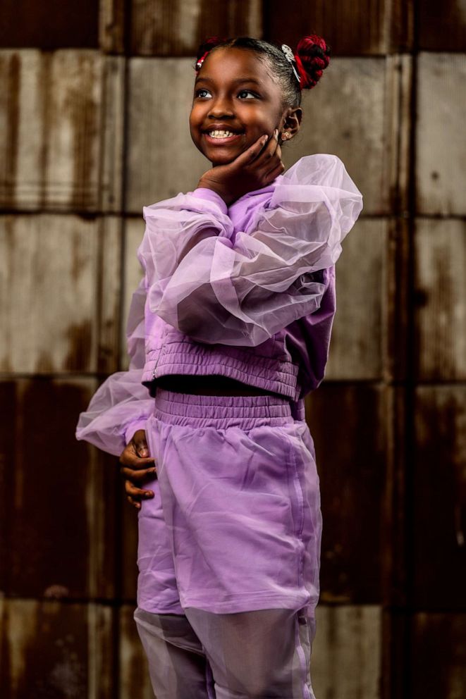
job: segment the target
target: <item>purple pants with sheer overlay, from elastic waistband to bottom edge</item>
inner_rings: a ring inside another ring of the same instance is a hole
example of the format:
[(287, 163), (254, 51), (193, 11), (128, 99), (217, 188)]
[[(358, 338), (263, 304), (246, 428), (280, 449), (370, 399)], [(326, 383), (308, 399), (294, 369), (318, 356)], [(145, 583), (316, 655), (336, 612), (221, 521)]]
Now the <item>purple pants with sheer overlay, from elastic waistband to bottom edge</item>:
[(157, 699), (314, 699), (321, 512), (304, 419), (284, 397), (158, 389), (146, 433), (135, 619)]

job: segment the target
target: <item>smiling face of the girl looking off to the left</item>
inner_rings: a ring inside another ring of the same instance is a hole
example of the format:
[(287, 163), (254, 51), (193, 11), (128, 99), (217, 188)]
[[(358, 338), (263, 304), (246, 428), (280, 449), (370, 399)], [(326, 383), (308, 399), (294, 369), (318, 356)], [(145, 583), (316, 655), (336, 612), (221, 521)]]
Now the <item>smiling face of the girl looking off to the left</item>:
[[(281, 130), (288, 111), (282, 108), (281, 89), (267, 63), (254, 51), (216, 49), (206, 56), (195, 80), (191, 138), (212, 166), (226, 165), (263, 134)], [(209, 135), (213, 130), (233, 135)]]

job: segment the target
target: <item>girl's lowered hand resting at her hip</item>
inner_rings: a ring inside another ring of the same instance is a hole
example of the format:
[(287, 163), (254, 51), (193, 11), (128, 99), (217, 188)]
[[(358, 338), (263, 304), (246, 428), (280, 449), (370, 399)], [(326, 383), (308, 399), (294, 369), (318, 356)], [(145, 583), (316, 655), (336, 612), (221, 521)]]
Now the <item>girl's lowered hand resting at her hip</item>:
[(125, 478), (125, 493), (128, 502), (136, 509), (141, 508), (141, 500), (154, 497), (152, 490), (138, 488), (145, 481), (152, 480), (157, 474), (154, 466), (154, 457), (149, 456), (146, 433), (144, 430), (137, 430), (133, 439), (128, 443), (120, 455), (120, 463), (123, 464), (120, 473)]

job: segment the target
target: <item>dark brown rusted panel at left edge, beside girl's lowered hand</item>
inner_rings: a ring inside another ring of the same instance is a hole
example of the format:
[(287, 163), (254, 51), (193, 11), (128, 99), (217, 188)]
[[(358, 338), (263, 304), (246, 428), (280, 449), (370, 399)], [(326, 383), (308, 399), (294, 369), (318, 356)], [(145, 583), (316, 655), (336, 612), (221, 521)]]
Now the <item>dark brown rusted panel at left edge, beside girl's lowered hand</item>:
[(11, 415), (1, 444), (11, 471), (2, 585), (8, 595), (115, 593), (116, 542), (109, 536), (115, 521), (114, 459), (76, 442), (74, 434), (95, 388), (84, 379), (0, 382), (1, 414)]

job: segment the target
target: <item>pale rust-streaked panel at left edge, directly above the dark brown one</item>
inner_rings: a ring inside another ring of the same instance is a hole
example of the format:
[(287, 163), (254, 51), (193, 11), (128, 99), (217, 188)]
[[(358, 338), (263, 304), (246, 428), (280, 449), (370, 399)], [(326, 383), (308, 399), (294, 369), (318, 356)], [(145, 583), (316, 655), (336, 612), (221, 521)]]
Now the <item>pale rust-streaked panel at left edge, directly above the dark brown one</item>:
[(116, 218), (0, 217), (1, 371), (116, 366), (119, 245)]

